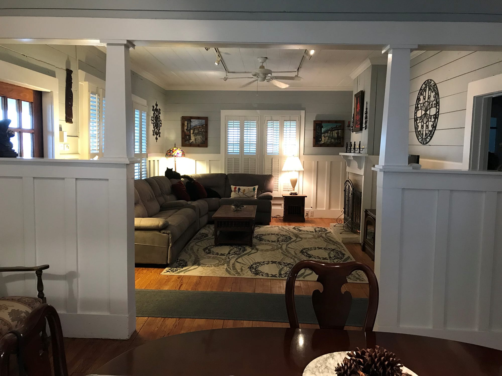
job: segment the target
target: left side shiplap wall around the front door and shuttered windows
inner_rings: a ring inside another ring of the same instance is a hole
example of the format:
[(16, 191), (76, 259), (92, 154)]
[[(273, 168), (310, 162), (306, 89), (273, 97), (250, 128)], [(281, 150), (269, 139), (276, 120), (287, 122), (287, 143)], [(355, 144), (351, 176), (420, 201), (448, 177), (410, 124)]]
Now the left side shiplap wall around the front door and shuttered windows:
[[(106, 54), (93, 46), (4, 44), (0, 45), (0, 60), (58, 79), (59, 93), (61, 93), (59, 95), (59, 125), (61, 130), (67, 132), (67, 143), (70, 146), (69, 150), (60, 150), (60, 156), (61, 158), (87, 159), (88, 155), (80, 153), (82, 147), (79, 144), (80, 133), (87, 132), (88, 127), (87, 124), (79, 124), (78, 70), (81, 69), (105, 80)], [(65, 122), (66, 68), (73, 71), (72, 124)], [(164, 104), (166, 103), (165, 90), (135, 72), (131, 72), (131, 87), (133, 94), (147, 101), (147, 118), (148, 124), (151, 126), (149, 120), (152, 116), (152, 105), (155, 105), (157, 101), (161, 110), (164, 110)], [(161, 112), (161, 119), (165, 121), (163, 112)], [(56, 135), (56, 138), (58, 137), (59, 134)], [(148, 132), (147, 143), (149, 146), (152, 145), (153, 150), (157, 150), (155, 145), (158, 145), (158, 142), (156, 143), (155, 137), (152, 137), (151, 130)], [(163, 147), (160, 149), (163, 149)]]

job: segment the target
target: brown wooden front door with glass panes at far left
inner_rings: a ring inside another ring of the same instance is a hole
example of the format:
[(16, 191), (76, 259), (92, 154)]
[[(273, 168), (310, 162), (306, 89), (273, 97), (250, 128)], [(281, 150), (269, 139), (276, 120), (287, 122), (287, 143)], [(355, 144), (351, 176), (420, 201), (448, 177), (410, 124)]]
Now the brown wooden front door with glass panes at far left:
[(44, 156), (40, 91), (0, 82), (0, 119), (11, 119), (11, 142), (19, 156)]

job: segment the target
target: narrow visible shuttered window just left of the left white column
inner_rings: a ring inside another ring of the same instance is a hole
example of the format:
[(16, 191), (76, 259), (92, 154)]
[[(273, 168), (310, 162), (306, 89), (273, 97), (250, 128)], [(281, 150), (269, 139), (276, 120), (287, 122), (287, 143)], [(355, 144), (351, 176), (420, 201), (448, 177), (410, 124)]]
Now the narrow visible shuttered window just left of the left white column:
[(89, 158), (103, 156), (105, 104), (104, 90), (89, 85)]

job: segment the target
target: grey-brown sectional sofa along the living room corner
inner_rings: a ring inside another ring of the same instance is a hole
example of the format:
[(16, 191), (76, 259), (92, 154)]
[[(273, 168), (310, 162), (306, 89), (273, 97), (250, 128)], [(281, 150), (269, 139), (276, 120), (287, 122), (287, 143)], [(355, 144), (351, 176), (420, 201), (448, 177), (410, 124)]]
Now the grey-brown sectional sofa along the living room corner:
[[(193, 177), (204, 187), (216, 191), (221, 198), (187, 202), (178, 200), (172, 193), (171, 186), (179, 179), (153, 176), (135, 180), (134, 238), (137, 264), (170, 264), (175, 261), (183, 247), (211, 221), (221, 205), (230, 205), (235, 201), (243, 205), (256, 205), (256, 223), (270, 224), (273, 175), (204, 173)], [(258, 196), (256, 199), (230, 198), (230, 185), (258, 185)]]

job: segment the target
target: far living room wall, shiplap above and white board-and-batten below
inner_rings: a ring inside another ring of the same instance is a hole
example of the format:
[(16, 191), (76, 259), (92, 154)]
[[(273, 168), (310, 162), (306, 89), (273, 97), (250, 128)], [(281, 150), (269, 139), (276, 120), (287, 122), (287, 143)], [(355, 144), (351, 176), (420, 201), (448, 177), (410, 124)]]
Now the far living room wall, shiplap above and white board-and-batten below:
[[(304, 110), (303, 163), (299, 192), (307, 195), (306, 209), (314, 210), (315, 217), (333, 218), (343, 208), (345, 162), (338, 155), (344, 147), (313, 147), (314, 120), (351, 119), (352, 92), (350, 91), (167, 91), (161, 140), (149, 144), (149, 174), (164, 174), (166, 150), (181, 145), (181, 116), (208, 117), (208, 147), (184, 147), (194, 162), (177, 161), (180, 173), (225, 172), (221, 147), (221, 110)], [(346, 142), (350, 133), (345, 133)], [(161, 145), (164, 145), (163, 148)], [(181, 168), (180, 168), (181, 167)], [(282, 167), (282, 166), (281, 166)], [(282, 199), (281, 199), (282, 200)], [(280, 203), (277, 207), (280, 208)], [(277, 213), (277, 214), (282, 214)]]

